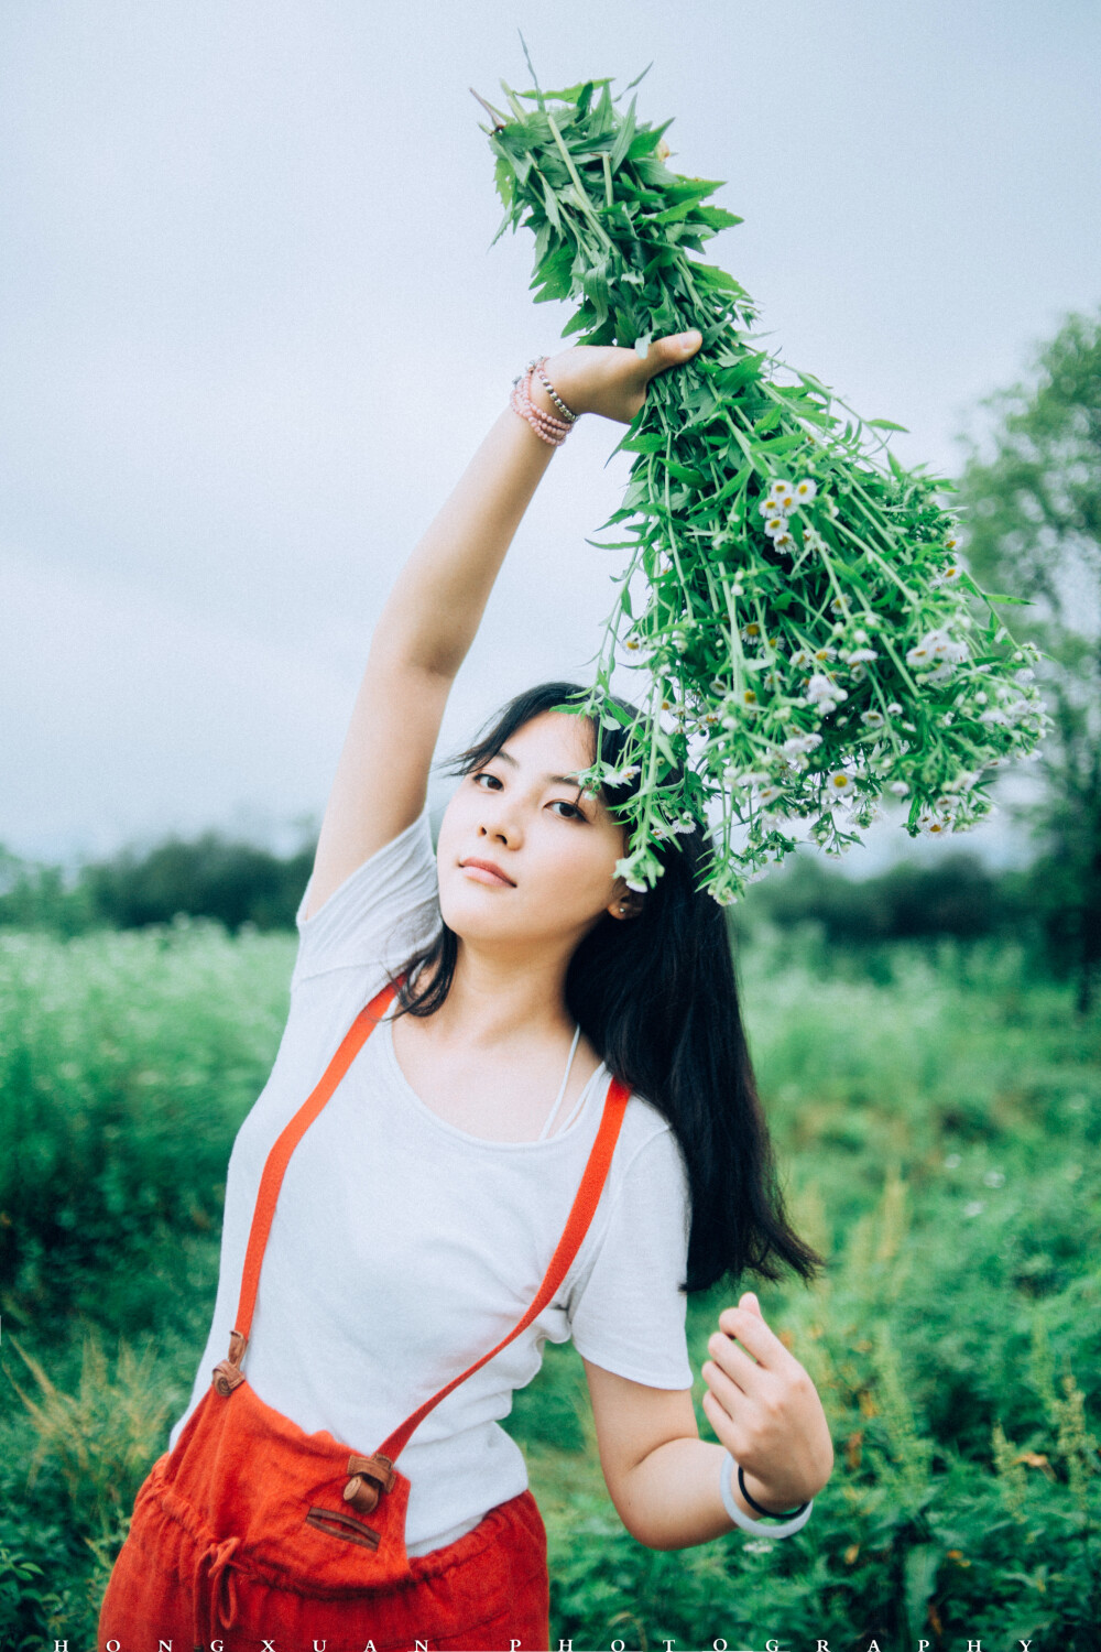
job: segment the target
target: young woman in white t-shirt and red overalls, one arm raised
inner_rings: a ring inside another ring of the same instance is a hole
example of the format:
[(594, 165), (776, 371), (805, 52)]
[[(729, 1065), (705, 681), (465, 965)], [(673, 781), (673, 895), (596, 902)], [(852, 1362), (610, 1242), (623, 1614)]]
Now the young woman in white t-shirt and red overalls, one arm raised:
[(546, 1649), (546, 1533), (499, 1426), (546, 1340), (581, 1353), (639, 1543), (794, 1505), (797, 1526), (830, 1475), (814, 1384), (751, 1292), (702, 1366), (718, 1444), (697, 1429), (685, 1292), (819, 1264), (776, 1191), (702, 834), (652, 890), (616, 876), (631, 781), (571, 778), (596, 730), (556, 709), (569, 682), (459, 755), (436, 851), (428, 821), (451, 684), (568, 416), (629, 423), (700, 342), (528, 368), (390, 591), (229, 1160), (210, 1340), (101, 1649)]

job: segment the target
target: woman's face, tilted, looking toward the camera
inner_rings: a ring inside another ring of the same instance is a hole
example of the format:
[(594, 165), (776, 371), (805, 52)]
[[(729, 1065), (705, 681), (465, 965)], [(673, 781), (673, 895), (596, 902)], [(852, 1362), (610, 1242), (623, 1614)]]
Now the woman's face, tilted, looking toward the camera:
[[(627, 829), (599, 798), (578, 795), (593, 762), (588, 719), (541, 712), (497, 757), (459, 781), (439, 826), (436, 862), (444, 922), (467, 940), (581, 940), (606, 910), (637, 910), (616, 877)], [(492, 861), (508, 884), (464, 861)]]

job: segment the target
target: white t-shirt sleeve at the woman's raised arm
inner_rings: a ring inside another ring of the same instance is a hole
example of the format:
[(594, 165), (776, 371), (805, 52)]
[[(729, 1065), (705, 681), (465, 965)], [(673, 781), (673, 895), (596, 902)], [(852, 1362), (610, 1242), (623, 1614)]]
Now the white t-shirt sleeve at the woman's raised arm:
[(365, 965), (396, 968), (439, 925), (439, 881), (428, 801), (411, 826), (361, 861), (307, 919), (312, 882), (310, 872), (294, 917), (299, 950), (291, 991), (327, 970)]

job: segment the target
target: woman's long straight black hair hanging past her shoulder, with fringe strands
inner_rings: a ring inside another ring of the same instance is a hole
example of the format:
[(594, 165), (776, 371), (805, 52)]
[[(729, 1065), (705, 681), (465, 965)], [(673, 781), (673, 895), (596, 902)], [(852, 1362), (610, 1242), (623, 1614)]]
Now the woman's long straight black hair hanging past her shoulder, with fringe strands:
[[(446, 773), (469, 775), (541, 712), (576, 705), (589, 694), (576, 682), (540, 682), (517, 694), (470, 747), (446, 760)], [(637, 707), (612, 695), (634, 722)], [(593, 733), (596, 724), (581, 720)], [(611, 724), (611, 719), (607, 719)], [(622, 765), (627, 733), (601, 727), (601, 760)], [(637, 790), (634, 780), (604, 786), (609, 809)], [(692, 1194), (688, 1275), (680, 1290), (708, 1290), (744, 1270), (777, 1279), (781, 1267), (810, 1279), (822, 1267), (787, 1224), (776, 1163), (756, 1090), (738, 1004), (733, 935), (726, 910), (697, 889), (711, 846), (697, 828), (662, 844), (664, 866), (637, 917), (604, 914), (578, 943), (565, 983), (569, 1014), (611, 1072), (670, 1123)], [(456, 970), (454, 930), (437, 937), (399, 971), (395, 1014), (431, 1016), (447, 998)]]

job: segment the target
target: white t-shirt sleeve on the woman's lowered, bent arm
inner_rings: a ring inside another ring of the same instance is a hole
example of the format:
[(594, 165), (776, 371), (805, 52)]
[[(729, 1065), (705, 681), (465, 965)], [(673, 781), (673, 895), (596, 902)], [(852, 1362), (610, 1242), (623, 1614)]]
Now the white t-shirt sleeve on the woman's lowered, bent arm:
[(677, 1285), (688, 1265), (690, 1189), (672, 1128), (631, 1160), (588, 1279), (568, 1307), (573, 1345), (606, 1371), (650, 1388), (692, 1388)]

